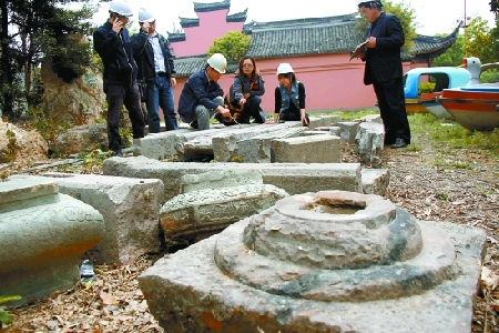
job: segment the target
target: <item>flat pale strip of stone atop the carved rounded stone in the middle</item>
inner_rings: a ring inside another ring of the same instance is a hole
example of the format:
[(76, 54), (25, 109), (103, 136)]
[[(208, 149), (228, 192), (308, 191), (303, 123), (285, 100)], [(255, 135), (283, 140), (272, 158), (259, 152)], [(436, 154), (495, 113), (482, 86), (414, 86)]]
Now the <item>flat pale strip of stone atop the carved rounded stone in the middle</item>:
[(263, 184), (262, 172), (259, 170), (220, 170), (200, 174), (184, 174), (181, 178), (181, 194), (247, 184)]

